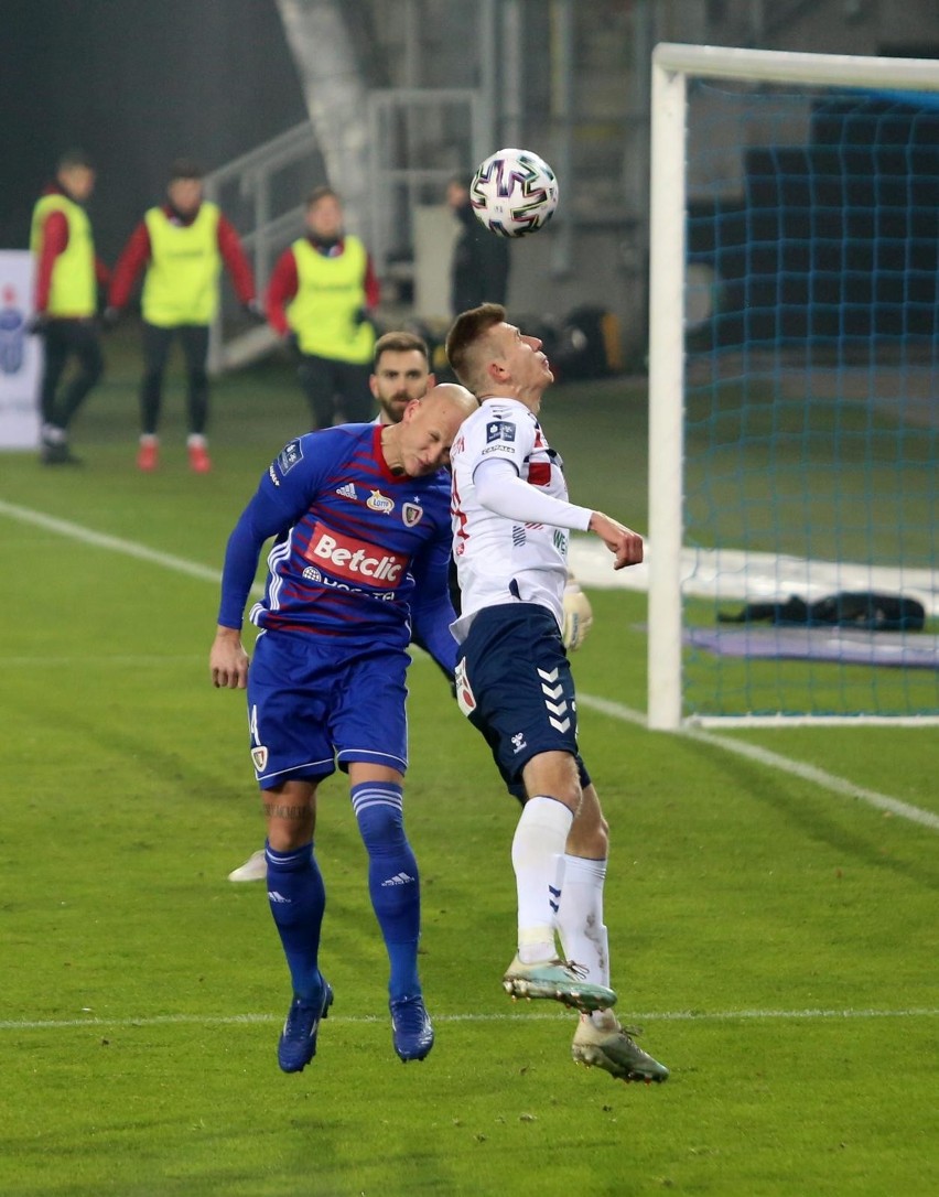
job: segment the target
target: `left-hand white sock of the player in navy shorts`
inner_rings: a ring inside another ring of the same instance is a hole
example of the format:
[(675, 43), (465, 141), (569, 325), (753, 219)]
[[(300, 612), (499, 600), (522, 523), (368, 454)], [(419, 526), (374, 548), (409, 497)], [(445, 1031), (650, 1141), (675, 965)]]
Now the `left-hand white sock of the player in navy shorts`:
[(573, 813), (555, 798), (529, 798), (512, 839), (518, 891), (518, 955), (523, 964), (553, 960), (565, 844)]

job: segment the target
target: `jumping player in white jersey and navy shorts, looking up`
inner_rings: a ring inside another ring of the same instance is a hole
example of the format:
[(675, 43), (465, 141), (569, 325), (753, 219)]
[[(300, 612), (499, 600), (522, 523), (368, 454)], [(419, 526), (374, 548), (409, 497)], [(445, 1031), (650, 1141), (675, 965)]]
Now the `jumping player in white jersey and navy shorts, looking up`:
[(608, 825), (578, 752), (562, 642), (569, 530), (599, 536), (616, 570), (642, 560), (642, 537), (568, 502), (561, 458), (538, 423), (554, 376), (537, 338), (510, 324), (501, 305), (483, 304), (457, 317), (446, 353), (480, 401), (451, 449), (462, 595), (453, 624), (457, 700), (524, 802), (512, 841), (518, 952), (504, 986), (513, 997), (555, 998), (580, 1011), (575, 1061), (624, 1081), (664, 1081), (667, 1068), (611, 1009)]

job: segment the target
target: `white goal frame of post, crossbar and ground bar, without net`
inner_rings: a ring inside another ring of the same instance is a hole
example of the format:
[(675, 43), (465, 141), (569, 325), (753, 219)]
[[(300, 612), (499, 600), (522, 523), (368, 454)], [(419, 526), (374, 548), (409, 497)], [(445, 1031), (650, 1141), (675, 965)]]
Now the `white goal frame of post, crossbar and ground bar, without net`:
[[(648, 353), (648, 727), (678, 730), (682, 710), (684, 263), (687, 81), (736, 79), (939, 92), (939, 63), (660, 43), (652, 54)], [(700, 725), (939, 723), (933, 716), (697, 717)]]

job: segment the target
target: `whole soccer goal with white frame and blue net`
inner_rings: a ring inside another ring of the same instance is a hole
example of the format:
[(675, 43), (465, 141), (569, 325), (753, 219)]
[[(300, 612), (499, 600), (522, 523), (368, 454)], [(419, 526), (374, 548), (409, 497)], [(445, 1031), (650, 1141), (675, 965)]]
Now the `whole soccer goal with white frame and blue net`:
[(656, 48), (651, 728), (939, 723), (937, 247), (939, 62)]

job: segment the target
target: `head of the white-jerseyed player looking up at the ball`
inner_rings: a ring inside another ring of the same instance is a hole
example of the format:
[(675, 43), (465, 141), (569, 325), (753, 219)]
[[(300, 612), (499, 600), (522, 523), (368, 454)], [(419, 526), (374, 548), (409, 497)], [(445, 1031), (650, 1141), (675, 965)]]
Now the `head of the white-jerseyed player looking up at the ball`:
[(548, 358), (537, 336), (528, 336), (506, 321), (498, 303), (484, 303), (461, 312), (446, 338), (446, 357), (453, 373), (478, 399), (498, 395), (541, 400), (554, 382)]

